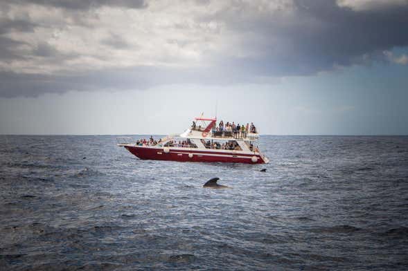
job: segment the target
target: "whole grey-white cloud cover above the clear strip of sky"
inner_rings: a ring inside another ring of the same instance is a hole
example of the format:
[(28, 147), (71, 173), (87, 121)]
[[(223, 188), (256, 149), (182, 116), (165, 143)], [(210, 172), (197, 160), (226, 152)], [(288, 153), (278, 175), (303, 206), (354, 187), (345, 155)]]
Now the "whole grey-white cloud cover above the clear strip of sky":
[(408, 3), (402, 0), (30, 0), (2, 5), (3, 97), (275, 82), (338, 66), (407, 62), (406, 55), (383, 53), (408, 46)]

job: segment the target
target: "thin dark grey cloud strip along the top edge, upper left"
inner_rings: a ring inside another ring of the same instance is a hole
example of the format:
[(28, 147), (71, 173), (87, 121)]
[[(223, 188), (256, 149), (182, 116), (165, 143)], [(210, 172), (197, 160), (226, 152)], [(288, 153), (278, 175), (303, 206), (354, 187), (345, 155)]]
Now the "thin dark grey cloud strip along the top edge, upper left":
[(19, 3), (35, 3), (54, 8), (66, 8), (69, 10), (88, 10), (100, 6), (112, 6), (123, 8), (146, 8), (144, 0), (20, 0)]

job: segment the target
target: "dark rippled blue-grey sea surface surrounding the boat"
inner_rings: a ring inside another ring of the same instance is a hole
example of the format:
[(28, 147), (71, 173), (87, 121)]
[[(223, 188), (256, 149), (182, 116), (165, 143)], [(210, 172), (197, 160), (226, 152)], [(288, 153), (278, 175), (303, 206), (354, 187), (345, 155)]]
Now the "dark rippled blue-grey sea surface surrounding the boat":
[(0, 136), (0, 270), (408, 270), (407, 136), (259, 144), (267, 165)]

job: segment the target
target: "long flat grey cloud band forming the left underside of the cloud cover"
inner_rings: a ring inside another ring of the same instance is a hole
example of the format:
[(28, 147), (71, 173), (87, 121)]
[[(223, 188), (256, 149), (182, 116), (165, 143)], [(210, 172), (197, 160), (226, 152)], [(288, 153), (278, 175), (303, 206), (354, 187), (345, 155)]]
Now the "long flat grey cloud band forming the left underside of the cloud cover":
[[(0, 72), (0, 97), (37, 97), (66, 91), (142, 90), (166, 84), (229, 85), (249, 82), (236, 69), (139, 66), (70, 75)], [(240, 71), (242, 73), (242, 71)], [(254, 82), (254, 80), (252, 80)]]

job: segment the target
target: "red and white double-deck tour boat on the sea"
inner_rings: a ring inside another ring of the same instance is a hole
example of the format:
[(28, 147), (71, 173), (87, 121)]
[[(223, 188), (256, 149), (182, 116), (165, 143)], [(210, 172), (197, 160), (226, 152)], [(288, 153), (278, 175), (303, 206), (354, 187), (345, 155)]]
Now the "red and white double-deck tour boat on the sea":
[[(117, 138), (118, 146), (125, 147), (142, 160), (169, 160), (178, 162), (240, 162), (263, 164), (269, 159), (260, 153), (254, 142), (256, 131), (216, 131), (216, 118), (195, 118), (192, 127), (179, 135), (166, 136), (159, 142), (131, 142)], [(194, 123), (195, 123), (194, 122)]]

